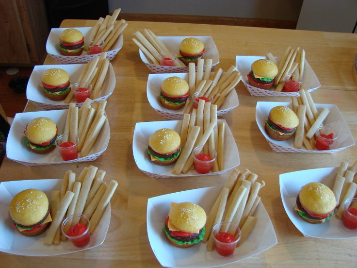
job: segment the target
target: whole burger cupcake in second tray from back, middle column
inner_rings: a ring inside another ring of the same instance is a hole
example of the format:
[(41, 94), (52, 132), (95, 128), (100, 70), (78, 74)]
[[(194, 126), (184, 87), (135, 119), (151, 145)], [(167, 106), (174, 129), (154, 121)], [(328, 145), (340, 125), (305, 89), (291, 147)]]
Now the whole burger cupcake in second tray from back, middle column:
[(167, 109), (182, 108), (189, 96), (190, 90), (186, 80), (178, 76), (166, 78), (161, 84), (159, 99), (162, 106)]

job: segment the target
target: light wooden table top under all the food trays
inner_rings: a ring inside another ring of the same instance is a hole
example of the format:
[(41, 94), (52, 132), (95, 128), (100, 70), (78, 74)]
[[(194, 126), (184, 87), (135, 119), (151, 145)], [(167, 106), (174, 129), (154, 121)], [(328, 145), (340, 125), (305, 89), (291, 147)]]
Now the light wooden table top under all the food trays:
[[(65, 20), (63, 27), (91, 26), (94, 21)], [(228, 173), (179, 179), (153, 179), (135, 165), (131, 145), (136, 122), (162, 120), (146, 99), (149, 69), (141, 62), (131, 33), (144, 28), (157, 35), (211, 35), (223, 70), (235, 64), (236, 55), (282, 55), (288, 46), (302, 47), (321, 88), (313, 92), (317, 103), (334, 103), (357, 139), (357, 86), (353, 60), (357, 35), (235, 26), (129, 22), (124, 46), (112, 61), (116, 88), (108, 114), (111, 139), (107, 151), (95, 162), (25, 167), (5, 159), (0, 181), (62, 178), (65, 170), (77, 174), (90, 164), (107, 171), (107, 180), (119, 181), (112, 204), (112, 218), (100, 247), (55, 257), (24, 257), (0, 253), (0, 267), (157, 267), (146, 235), (146, 202), (150, 197), (206, 186), (222, 185)], [(46, 64), (55, 64), (48, 57)], [(338, 167), (342, 160), (353, 163), (357, 147), (334, 154), (273, 152), (255, 122), (257, 101), (290, 101), (289, 98), (251, 97), (244, 85), (236, 87), (240, 105), (225, 117), (239, 148), (240, 169), (249, 168), (266, 182), (262, 202), (276, 230), (278, 244), (272, 249), (228, 267), (356, 267), (357, 239), (305, 238), (292, 224), (281, 203), (279, 174), (309, 168)], [(33, 107), (28, 107), (31, 110)], [(1, 239), (1, 238), (0, 238)]]

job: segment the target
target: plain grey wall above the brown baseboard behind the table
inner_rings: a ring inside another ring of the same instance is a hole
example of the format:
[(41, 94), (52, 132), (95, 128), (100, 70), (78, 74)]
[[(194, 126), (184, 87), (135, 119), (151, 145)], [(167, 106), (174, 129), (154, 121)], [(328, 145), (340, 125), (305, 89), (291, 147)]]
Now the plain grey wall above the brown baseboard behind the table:
[(303, 0), (108, 0), (109, 12), (297, 21)]

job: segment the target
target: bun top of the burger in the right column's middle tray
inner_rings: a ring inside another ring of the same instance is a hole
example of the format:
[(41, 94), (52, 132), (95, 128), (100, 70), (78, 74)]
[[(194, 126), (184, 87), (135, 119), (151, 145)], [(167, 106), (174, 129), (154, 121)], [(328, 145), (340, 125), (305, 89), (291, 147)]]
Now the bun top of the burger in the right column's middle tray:
[(286, 106), (276, 106), (270, 110), (270, 119), (273, 123), (285, 128), (296, 128), (299, 124), (299, 118)]

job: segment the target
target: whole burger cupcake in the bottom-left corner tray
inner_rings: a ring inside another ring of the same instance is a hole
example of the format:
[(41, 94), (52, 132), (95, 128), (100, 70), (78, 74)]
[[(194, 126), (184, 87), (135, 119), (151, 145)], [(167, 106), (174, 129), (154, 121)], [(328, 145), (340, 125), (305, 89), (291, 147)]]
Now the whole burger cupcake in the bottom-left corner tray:
[(9, 205), (12, 225), (22, 235), (42, 234), (52, 220), (49, 200), (43, 191), (27, 189), (17, 193)]

